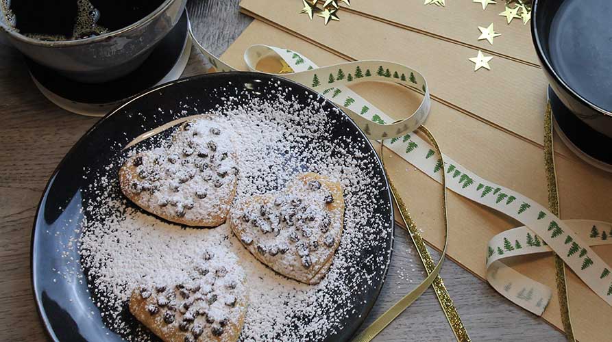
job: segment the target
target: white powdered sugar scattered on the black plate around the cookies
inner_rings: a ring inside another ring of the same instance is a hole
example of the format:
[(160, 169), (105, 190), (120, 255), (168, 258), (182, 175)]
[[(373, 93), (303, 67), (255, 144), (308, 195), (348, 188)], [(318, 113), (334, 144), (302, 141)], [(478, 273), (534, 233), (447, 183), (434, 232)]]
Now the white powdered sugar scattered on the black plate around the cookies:
[(384, 198), (387, 189), (380, 165), (367, 152), (363, 137), (346, 134), (341, 121), (348, 119), (328, 113), (334, 109), (310, 92), (296, 95), (278, 81), (270, 81), (263, 94), (236, 90), (231, 84), (216, 92), (225, 105), (206, 113), (188, 105), (174, 113), (160, 108), (155, 120), (207, 114), (220, 129), (231, 132), (239, 170), (234, 202), (279, 191), (300, 172), (317, 172), (341, 183), (343, 235), (327, 276), (317, 285), (280, 276), (256, 260), (227, 224), (180, 226), (127, 200), (119, 189), (117, 170), (134, 153), (162, 145), (168, 134), (127, 151), (121, 148), (129, 139), (114, 142), (105, 166), (85, 170), (88, 188), (83, 192), (80, 238), (66, 248), (79, 251), (89, 291), (106, 325), (129, 341), (151, 339), (127, 313), (132, 291), (140, 285), (180, 282), (205, 250), (227, 252), (245, 270), (249, 307), (241, 340), (328, 339), (364, 318), (360, 313), (373, 304), (371, 291), (380, 286), (390, 260), (391, 207)]

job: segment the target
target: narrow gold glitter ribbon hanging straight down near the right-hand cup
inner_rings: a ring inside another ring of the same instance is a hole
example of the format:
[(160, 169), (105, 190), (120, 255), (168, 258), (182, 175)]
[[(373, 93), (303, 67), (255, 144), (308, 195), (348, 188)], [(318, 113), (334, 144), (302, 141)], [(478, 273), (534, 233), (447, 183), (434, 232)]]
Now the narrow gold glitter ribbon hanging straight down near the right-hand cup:
[[(548, 183), (548, 209), (561, 218), (559, 210), (559, 188), (556, 183), (556, 169), (554, 168), (554, 148), (552, 143), (552, 108), (550, 102), (546, 105), (544, 116), (544, 165), (546, 167), (546, 182)], [(556, 291), (559, 293), (559, 306), (561, 309), (561, 321), (563, 330), (568, 341), (574, 339), (572, 319), (570, 317), (570, 302), (567, 295), (567, 279), (565, 278), (565, 263), (556, 253), (552, 253), (554, 258), (554, 270), (556, 278)]]

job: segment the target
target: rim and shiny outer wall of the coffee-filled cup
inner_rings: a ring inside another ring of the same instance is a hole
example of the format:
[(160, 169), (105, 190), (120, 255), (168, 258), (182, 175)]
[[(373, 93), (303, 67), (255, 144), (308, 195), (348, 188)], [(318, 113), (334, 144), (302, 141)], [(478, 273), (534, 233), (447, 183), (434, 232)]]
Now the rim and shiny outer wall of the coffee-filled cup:
[(154, 12), (117, 31), (79, 40), (29, 38), (9, 25), (0, 1), (0, 34), (34, 62), (85, 83), (118, 79), (136, 70), (178, 23), (187, 0), (166, 0)]

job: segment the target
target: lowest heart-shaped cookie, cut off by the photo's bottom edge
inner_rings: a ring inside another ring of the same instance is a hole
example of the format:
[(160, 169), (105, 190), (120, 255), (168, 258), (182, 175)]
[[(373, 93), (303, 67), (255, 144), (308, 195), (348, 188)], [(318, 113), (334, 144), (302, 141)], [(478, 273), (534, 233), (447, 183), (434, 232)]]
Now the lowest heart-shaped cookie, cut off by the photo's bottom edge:
[(184, 282), (135, 289), (130, 313), (166, 342), (234, 342), (247, 297), (243, 269), (206, 252)]

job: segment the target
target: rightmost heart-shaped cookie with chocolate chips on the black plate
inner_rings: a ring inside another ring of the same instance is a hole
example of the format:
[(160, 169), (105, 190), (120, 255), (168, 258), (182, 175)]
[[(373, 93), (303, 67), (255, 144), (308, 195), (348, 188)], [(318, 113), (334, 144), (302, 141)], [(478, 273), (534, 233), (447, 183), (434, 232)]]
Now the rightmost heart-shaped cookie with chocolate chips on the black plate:
[(276, 272), (317, 284), (340, 244), (344, 196), (340, 183), (299, 174), (286, 189), (239, 202), (232, 231), (245, 248)]

